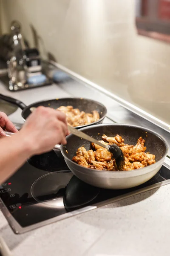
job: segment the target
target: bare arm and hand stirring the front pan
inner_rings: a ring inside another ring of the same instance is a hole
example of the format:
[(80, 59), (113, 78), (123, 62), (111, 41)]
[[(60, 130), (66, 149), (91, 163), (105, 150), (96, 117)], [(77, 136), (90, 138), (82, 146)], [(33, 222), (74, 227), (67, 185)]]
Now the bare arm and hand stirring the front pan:
[(68, 128), (65, 114), (38, 107), (21, 131), (0, 139), (0, 184), (10, 177), (29, 157), (50, 151), (55, 144), (66, 144)]

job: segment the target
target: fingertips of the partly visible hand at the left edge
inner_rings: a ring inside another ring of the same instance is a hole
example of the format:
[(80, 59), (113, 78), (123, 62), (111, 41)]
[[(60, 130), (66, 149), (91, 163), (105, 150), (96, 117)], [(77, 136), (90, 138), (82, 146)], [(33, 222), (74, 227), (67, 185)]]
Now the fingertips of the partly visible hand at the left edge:
[(15, 128), (13, 123), (8, 119), (8, 116), (0, 112), (0, 137), (6, 136), (4, 130), (17, 133), (18, 130)]

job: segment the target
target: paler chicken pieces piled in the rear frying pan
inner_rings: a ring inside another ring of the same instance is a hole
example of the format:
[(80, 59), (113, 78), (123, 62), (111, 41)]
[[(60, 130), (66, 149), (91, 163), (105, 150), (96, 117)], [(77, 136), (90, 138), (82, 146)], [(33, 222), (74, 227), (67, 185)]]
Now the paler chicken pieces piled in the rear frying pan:
[(68, 125), (73, 127), (88, 125), (100, 119), (99, 113), (96, 110), (92, 111), (92, 113), (85, 113), (84, 111), (80, 112), (78, 108), (73, 108), (73, 106), (60, 106), (57, 110), (66, 114)]

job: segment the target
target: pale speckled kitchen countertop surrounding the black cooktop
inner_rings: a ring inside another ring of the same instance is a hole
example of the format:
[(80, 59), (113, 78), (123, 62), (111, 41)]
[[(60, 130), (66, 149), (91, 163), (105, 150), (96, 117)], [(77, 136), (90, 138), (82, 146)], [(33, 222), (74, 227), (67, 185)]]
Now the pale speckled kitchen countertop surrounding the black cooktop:
[[(26, 104), (71, 94), (82, 96), (78, 88), (75, 91), (74, 86), (67, 87), (68, 90), (66, 87), (66, 84), (53, 84), (13, 93), (0, 84), (0, 92)], [(83, 96), (88, 97), (89, 93), (87, 89)], [(114, 118), (122, 118), (121, 106), (111, 99), (108, 101), (101, 93), (95, 93), (96, 99), (99, 100), (100, 96), (101, 102), (108, 108), (109, 118), (113, 109), (117, 113)], [(23, 123), (20, 114), (21, 110), (18, 109), (9, 118), (13, 122)], [(133, 119), (130, 120), (132, 122)], [(13, 233), (0, 212), (0, 235), (16, 256), (169, 256), (169, 199), (170, 185), (166, 185), (22, 235)]]

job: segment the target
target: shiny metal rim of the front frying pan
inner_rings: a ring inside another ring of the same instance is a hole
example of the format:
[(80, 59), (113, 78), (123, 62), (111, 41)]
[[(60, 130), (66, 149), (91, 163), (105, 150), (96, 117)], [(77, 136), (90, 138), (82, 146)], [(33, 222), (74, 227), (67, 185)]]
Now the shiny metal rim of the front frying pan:
[[(162, 140), (162, 142), (165, 145), (166, 150), (165, 150), (165, 153), (162, 156), (162, 158), (160, 160), (158, 160), (156, 163), (154, 163), (155, 169), (158, 168), (159, 166), (161, 166), (164, 163), (164, 158), (167, 156), (169, 145), (168, 145), (167, 141), (164, 139), (164, 137), (162, 135), (160, 135), (160, 134), (156, 133), (155, 131), (152, 131), (148, 128), (139, 126), (139, 125), (128, 125), (128, 124), (117, 124), (117, 123), (116, 124), (98, 124), (98, 125), (93, 125), (93, 128), (95, 128), (95, 127), (96, 128), (97, 127), (104, 127), (104, 126), (125, 126), (125, 127), (131, 127), (131, 128), (139, 128), (139, 129), (142, 129), (142, 130), (147, 131), (147, 132), (151, 132), (152, 134), (156, 135), (156, 137), (159, 137)], [(91, 129), (91, 128), (92, 127), (89, 126), (89, 127), (81, 128), (79, 130), (84, 131), (84, 130), (88, 130), (88, 129)], [(68, 140), (69, 137), (72, 137), (72, 136), (74, 136), (74, 135), (69, 134), (66, 137), (66, 139)], [(65, 145), (61, 145), (61, 153), (62, 153), (62, 156), (66, 159), (65, 161), (68, 161), (69, 163), (73, 164), (74, 166), (77, 166), (78, 164), (73, 162), (71, 159), (69, 159), (67, 157), (67, 155), (65, 154), (65, 152), (63, 151), (64, 146)], [(153, 165), (151, 165), (151, 166), (153, 166)], [(140, 169), (135, 169), (135, 170), (129, 170), (129, 171), (106, 171), (106, 170), (89, 169), (89, 168), (86, 168), (86, 167), (83, 167), (83, 166), (80, 166), (80, 167), (82, 168), (83, 171), (85, 171), (86, 174), (88, 174), (88, 172), (90, 172), (91, 174), (100, 172), (102, 175), (107, 174), (107, 176), (108, 175), (110, 177), (112, 176), (112, 178), (121, 178), (120, 175), (123, 176), (122, 178), (131, 177), (131, 176), (133, 176), (133, 174), (135, 174), (136, 176), (140, 176), (140, 175), (144, 175), (144, 174), (147, 174), (147, 173), (150, 172), (150, 166), (146, 166), (146, 167), (143, 167), (143, 168), (140, 168)], [(142, 170), (142, 173), (140, 172), (141, 170)]]

